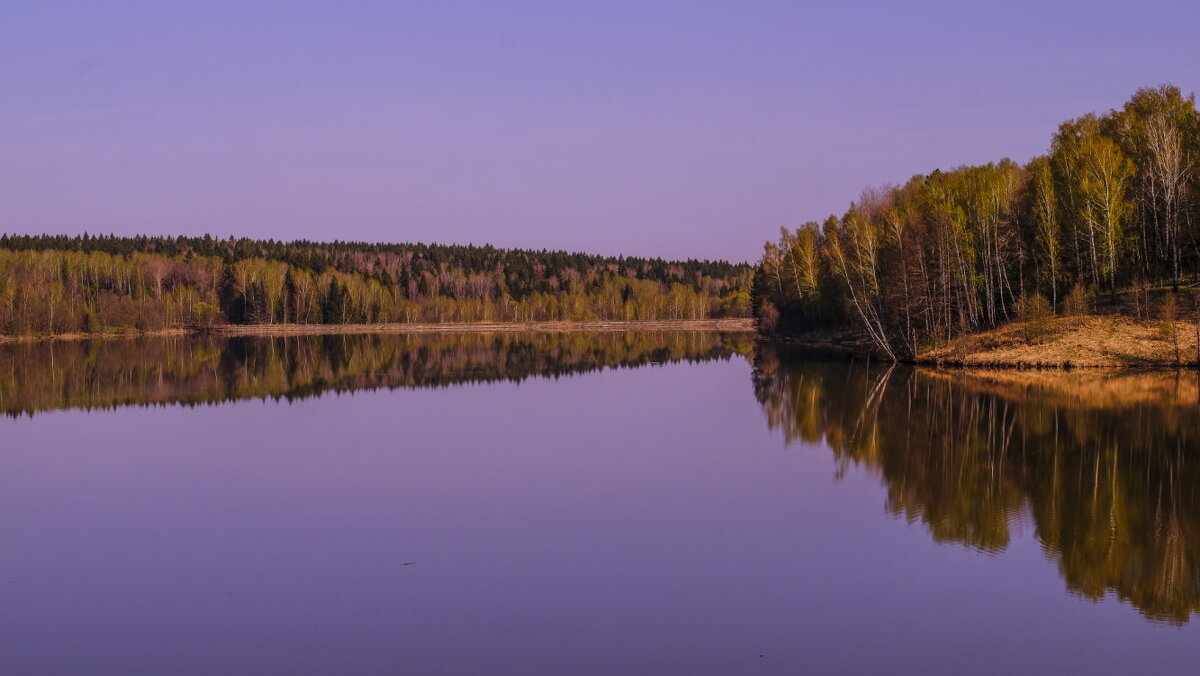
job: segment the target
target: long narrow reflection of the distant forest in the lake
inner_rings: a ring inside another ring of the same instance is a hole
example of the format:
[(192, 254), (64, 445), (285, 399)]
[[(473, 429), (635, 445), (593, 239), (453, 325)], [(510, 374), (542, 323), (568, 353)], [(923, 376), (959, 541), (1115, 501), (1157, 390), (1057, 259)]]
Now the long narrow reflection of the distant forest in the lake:
[(145, 337), (0, 345), (0, 411), (212, 403), (326, 390), (523, 381), (748, 354), (746, 334)]

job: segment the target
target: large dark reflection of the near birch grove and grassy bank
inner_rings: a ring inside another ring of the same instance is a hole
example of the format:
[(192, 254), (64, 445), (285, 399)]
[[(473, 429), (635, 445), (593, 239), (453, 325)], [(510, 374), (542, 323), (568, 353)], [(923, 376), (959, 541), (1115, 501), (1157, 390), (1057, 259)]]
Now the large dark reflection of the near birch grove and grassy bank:
[(1146, 617), (1200, 612), (1193, 372), (944, 372), (821, 363), (763, 346), (772, 429), (878, 473), (937, 542), (998, 551), (1030, 522), (1068, 588)]

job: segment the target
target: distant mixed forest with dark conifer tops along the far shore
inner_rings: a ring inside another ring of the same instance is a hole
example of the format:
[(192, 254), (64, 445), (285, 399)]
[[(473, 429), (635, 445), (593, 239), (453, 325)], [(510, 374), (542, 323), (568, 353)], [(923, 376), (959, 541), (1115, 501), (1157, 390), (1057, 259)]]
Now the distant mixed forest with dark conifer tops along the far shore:
[(751, 276), (719, 261), (492, 246), (4, 235), (0, 333), (748, 317)]

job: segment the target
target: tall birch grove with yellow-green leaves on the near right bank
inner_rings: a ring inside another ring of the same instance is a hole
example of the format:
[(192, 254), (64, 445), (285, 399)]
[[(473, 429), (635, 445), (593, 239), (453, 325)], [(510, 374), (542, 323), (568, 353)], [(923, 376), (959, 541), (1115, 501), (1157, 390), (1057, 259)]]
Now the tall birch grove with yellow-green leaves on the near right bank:
[(1069, 120), (1050, 151), (868, 190), (768, 243), (767, 331), (862, 330), (892, 357), (1024, 313), (1147, 312), (1200, 269), (1200, 114), (1175, 86)]

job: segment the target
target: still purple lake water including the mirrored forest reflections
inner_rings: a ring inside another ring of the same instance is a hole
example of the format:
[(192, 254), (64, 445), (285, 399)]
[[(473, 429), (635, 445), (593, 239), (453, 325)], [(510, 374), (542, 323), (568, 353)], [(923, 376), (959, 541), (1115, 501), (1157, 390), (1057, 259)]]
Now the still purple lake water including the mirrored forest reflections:
[(1196, 672), (1195, 378), (0, 346), (0, 672)]

